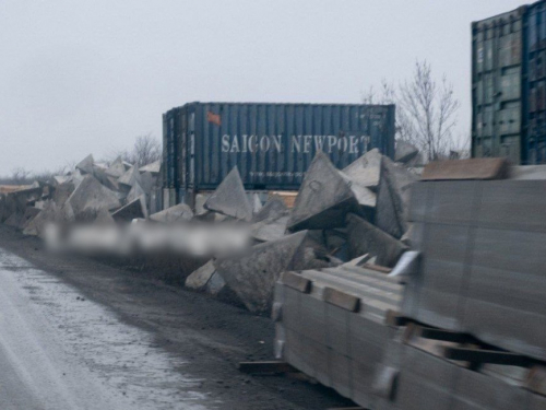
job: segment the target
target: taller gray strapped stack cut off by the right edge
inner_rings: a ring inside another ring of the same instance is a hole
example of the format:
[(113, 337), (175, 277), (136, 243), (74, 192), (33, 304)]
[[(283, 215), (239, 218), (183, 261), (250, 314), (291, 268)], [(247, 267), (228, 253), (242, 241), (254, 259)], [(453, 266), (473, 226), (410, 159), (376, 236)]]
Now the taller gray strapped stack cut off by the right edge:
[(405, 316), (546, 360), (546, 180), (424, 181)]

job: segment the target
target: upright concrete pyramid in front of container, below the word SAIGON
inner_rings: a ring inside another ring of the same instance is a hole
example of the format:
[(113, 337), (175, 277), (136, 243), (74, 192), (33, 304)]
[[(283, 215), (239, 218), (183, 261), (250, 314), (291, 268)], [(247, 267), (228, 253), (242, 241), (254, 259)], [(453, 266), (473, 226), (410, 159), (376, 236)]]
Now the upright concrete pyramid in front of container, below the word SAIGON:
[(206, 199), (204, 208), (238, 220), (250, 221), (252, 219), (252, 206), (248, 201), (237, 167), (227, 174), (222, 184)]

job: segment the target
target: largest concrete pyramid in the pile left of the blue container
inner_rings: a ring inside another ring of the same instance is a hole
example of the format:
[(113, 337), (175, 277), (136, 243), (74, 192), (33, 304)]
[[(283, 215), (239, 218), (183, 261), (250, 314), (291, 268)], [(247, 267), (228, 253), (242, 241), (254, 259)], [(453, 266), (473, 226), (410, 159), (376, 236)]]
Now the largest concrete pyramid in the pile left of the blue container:
[(102, 209), (111, 211), (121, 207), (116, 194), (91, 175), (83, 178), (67, 202), (70, 202), (76, 219), (84, 213), (95, 212), (96, 214)]

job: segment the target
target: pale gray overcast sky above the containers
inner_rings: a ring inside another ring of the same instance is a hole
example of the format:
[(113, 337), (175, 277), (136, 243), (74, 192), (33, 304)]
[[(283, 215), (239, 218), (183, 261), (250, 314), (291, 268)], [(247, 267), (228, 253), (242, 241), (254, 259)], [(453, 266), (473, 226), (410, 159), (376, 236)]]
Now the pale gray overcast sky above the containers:
[(192, 101), (358, 103), (427, 59), (470, 133), (472, 21), (521, 0), (0, 0), (0, 175), (161, 138)]

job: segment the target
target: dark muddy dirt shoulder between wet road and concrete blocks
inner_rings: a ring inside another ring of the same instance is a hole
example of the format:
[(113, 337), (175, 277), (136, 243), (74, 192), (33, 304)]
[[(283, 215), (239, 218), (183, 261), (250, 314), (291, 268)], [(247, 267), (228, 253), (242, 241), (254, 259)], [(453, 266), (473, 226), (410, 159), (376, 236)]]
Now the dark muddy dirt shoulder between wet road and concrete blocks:
[(221, 400), (222, 409), (352, 406), (317, 384), (286, 376), (248, 376), (237, 370), (241, 361), (274, 359), (274, 326), (268, 317), (166, 284), (151, 268), (136, 271), (85, 257), (51, 255), (40, 239), (4, 225), (0, 225), (0, 247), (76, 288), (128, 325), (152, 333), (158, 348), (192, 363), (191, 375), (204, 380), (201, 389), (212, 401)]

